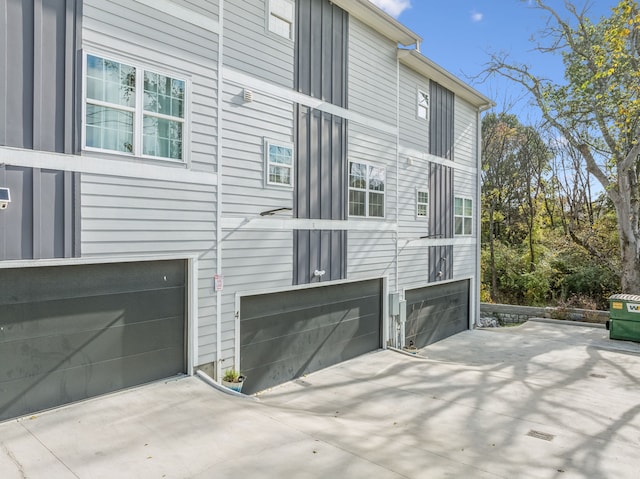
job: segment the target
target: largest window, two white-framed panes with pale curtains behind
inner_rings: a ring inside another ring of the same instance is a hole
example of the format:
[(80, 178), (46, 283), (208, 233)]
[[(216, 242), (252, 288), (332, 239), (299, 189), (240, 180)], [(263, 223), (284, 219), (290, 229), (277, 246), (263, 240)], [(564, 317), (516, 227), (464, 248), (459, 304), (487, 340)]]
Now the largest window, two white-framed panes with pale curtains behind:
[(185, 159), (185, 80), (87, 54), (85, 88), (86, 148)]

